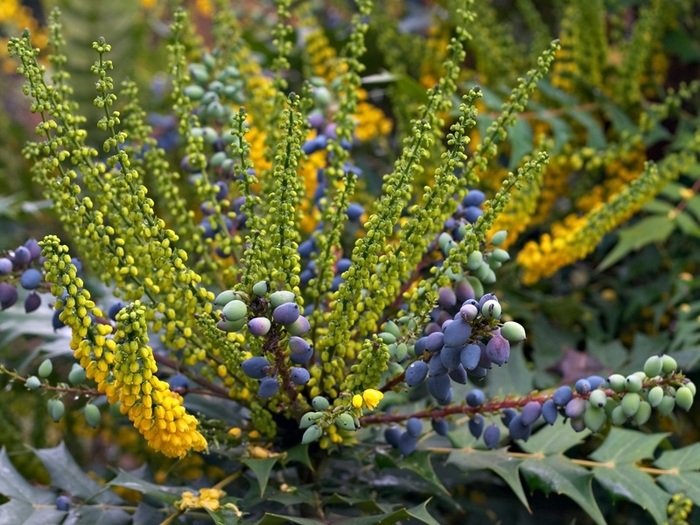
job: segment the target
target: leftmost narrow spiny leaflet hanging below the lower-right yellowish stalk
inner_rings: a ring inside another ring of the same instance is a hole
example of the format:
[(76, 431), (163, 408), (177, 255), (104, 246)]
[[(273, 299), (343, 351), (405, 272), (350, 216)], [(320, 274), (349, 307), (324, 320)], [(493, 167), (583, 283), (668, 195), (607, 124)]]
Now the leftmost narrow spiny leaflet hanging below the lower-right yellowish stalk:
[(521, 460), (510, 457), (507, 450), (507, 448), (498, 450), (455, 450), (450, 452), (447, 464), (453, 464), (467, 472), (490, 470), (508, 484), (510, 489), (518, 496), (520, 502), (529, 511), (530, 505), (527, 502), (527, 497), (525, 497), (525, 491), (518, 475)]

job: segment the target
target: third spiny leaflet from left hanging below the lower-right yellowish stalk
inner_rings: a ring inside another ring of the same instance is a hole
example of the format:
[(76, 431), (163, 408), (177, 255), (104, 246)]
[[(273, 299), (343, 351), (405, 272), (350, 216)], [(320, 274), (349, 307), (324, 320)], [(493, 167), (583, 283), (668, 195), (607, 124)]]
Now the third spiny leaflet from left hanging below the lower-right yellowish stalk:
[(666, 521), (669, 495), (634, 465), (596, 467), (593, 469), (593, 475), (613, 500), (631, 501), (647, 510), (656, 523)]

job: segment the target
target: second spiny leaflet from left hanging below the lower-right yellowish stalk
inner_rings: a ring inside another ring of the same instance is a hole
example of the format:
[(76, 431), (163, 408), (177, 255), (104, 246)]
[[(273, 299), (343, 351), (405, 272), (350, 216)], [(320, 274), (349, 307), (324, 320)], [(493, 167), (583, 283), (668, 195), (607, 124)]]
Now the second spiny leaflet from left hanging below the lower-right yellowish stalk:
[(585, 468), (557, 455), (544, 459), (526, 459), (520, 465), (520, 472), (533, 490), (540, 489), (545, 494), (564, 494), (586, 511), (593, 521), (605, 525), (605, 518), (591, 489), (593, 474)]

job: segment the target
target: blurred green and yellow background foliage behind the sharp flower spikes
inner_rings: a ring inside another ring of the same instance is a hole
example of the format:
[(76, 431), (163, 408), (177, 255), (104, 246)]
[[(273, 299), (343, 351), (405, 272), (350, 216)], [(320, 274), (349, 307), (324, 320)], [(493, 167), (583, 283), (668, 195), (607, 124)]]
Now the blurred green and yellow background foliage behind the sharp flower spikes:
[[(213, 43), (216, 3), (190, 0), (185, 4), (196, 20), (189, 52), (197, 59), (202, 46)], [(305, 4), (305, 16), (296, 24), (300, 45), (291, 56), (288, 72), (292, 89), (300, 88), (302, 75), (298, 72), (305, 72), (305, 77), (327, 73), (324, 68), (329, 57), (338, 53), (347, 37), (345, 22), (352, 12), (352, 5), (341, 0)], [(94, 60), (91, 43), (104, 36), (112, 44), (111, 59), (117, 65), (115, 84), (130, 77), (141, 87), (142, 104), (159, 143), (169, 149), (177, 165), (178, 139), (168, 109), (170, 72), (163, 67), (174, 5), (161, 0), (2, 2), (0, 246), (13, 247), (28, 237), (62, 233), (50, 203), (32, 182), (29, 166), (19, 153), (37, 121), (20, 94), (22, 80), (13, 73), (16, 65), (7, 57), (4, 41), (28, 27), (34, 43), (43, 47), (46, 14), (53, 6), (60, 7), (69, 57), (66, 67), (75, 98), (92, 119), (88, 123), (92, 129), (97, 114), (89, 72)], [(698, 382), (699, 165), (665, 185), (614, 233), (606, 235), (585, 260), (557, 265), (542, 256), (548, 244), (565, 239), (587, 212), (636, 178), (646, 160), (663, 163), (667, 155), (684, 150), (700, 124), (700, 100), (694, 94), (698, 86), (692, 84), (700, 78), (700, 3), (496, 0), (477, 1), (474, 8), (477, 22), (469, 27), (473, 39), (458, 79), (458, 92), (479, 85), (484, 93), (474, 138), (486, 133), (518, 75), (532, 66), (549, 41), (559, 38), (562, 45), (552, 73), (523, 108), (500, 155), (480, 173), (481, 189), (493, 194), (507, 170), (517, 167), (539, 144), (552, 154), (540, 184), (516, 194), (514, 206), (494, 228), (508, 229), (509, 250), (519, 254), (518, 264), (504, 267), (499, 274), (498, 293), (505, 298), (504, 309), (522, 320), (528, 334), (534, 336), (526, 344), (527, 359), (512, 362), (507, 372), (489, 377), (490, 394), (526, 394), (593, 373), (631, 373), (650, 354), (661, 351), (672, 354)], [(273, 52), (266, 42), (276, 22), (274, 6), (250, 1), (236, 3), (234, 9), (245, 28), (246, 45), (263, 67), (268, 66)], [(381, 174), (391, 169), (410, 118), (425, 100), (425, 88), (434, 85), (441, 74), (436, 68), (446, 57), (446, 44), (454, 32), (445, 13), (437, 0), (377, 2), (363, 59), (363, 122), (368, 140), (353, 154), (354, 162), (367, 174), (358, 198), (368, 209), (380, 191)], [(678, 92), (683, 85), (691, 93), (685, 100), (668, 98), (669, 90)], [(669, 100), (667, 110), (659, 109)], [(452, 116), (446, 115), (448, 121)], [(97, 141), (99, 135), (91, 139)], [(437, 162), (437, 158), (428, 161), (423, 180), (416, 181), (418, 187), (428, 183)], [(95, 291), (100, 293), (99, 288)], [(35, 366), (41, 349), (42, 356), (46, 352), (65, 355), (56, 360), (60, 365), (54, 371), (57, 379), (65, 377), (70, 369), (67, 339), (50, 326), (47, 308), (26, 317), (18, 309), (0, 313), (0, 346), (8, 368), (22, 373)], [(13, 455), (22, 474), (38, 482), (45, 482), (47, 475), (26, 445), (42, 448), (60, 440), (98, 479), (111, 476), (106, 465), (131, 469), (144, 462), (159, 483), (195, 482), (205, 477), (210, 486), (231, 472), (230, 465), (220, 459), (192, 455), (174, 462), (151, 453), (131, 425), (108, 420), (93, 430), (77, 412), (71, 416), (71, 410), (60, 424), (49, 424), (45, 411), (34, 406), (43, 404), (40, 398), (18, 388), (10, 388), (5, 396), (0, 404), (0, 443)], [(74, 403), (82, 406), (83, 401)], [(648, 428), (673, 432), (674, 447), (695, 443), (700, 439), (698, 406), (687, 415), (653, 419)], [(513, 493), (484, 471), (465, 480), (448, 466), (441, 479), (452, 498), (438, 496), (440, 491), (429, 490), (419, 481), (412, 490), (436, 496), (445, 523), (451, 519), (460, 522), (465, 509), (479, 516), (470, 523), (530, 523), (534, 519), (539, 523), (572, 519), (586, 523), (589, 519), (569, 500), (554, 495), (544, 499), (541, 493), (531, 498), (531, 507), (536, 509), (533, 518)], [(126, 490), (122, 495), (134, 497)], [(281, 493), (277, 496), (284, 501)], [(410, 496), (407, 491), (406, 498)], [(610, 523), (646, 522), (636, 506), (618, 502), (613, 507), (611, 500), (603, 497), (602, 501), (607, 502), (601, 508)]]

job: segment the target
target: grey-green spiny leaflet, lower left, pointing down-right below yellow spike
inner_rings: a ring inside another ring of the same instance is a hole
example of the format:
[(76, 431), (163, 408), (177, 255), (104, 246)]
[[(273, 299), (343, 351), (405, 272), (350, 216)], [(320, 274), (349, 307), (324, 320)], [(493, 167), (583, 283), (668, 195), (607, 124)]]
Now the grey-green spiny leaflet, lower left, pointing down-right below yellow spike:
[(51, 476), (51, 485), (83, 501), (119, 505), (123, 500), (83, 472), (61, 442), (54, 448), (33, 449)]

